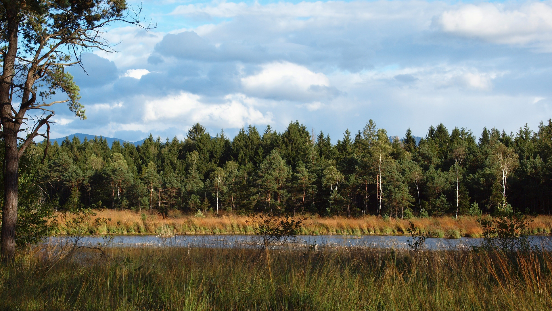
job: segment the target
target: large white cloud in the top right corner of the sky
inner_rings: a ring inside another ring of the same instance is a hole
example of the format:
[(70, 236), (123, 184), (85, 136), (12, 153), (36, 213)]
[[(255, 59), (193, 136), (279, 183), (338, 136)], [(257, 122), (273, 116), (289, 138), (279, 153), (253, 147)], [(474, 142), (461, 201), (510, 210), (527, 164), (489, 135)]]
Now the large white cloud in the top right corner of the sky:
[(513, 9), (501, 3), (466, 4), (443, 12), (437, 22), (444, 32), (495, 43), (552, 41), (550, 2), (532, 2)]

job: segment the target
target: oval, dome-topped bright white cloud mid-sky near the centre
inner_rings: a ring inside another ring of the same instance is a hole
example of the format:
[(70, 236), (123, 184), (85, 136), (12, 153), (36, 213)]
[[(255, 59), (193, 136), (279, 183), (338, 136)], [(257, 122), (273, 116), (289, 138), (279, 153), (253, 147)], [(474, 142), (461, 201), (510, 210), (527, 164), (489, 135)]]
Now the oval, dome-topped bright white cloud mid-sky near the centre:
[(289, 62), (274, 62), (261, 66), (258, 74), (243, 77), (247, 94), (283, 100), (305, 100), (316, 97), (330, 86), (330, 80), (321, 72), (312, 72), (304, 66)]

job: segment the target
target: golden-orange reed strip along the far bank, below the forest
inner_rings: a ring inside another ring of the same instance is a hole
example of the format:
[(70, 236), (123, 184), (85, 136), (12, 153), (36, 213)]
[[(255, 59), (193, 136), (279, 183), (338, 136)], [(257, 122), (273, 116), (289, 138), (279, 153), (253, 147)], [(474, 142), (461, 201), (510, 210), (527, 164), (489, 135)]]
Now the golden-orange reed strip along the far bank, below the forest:
[[(88, 234), (92, 235), (133, 235), (133, 234), (181, 234), (213, 235), (254, 233), (254, 221), (247, 216), (221, 213), (208, 214), (206, 217), (184, 215), (171, 211), (168, 215), (160, 213), (133, 212), (130, 210), (96, 210), (87, 223)], [(60, 216), (61, 217), (61, 216)], [(105, 220), (97, 222), (95, 219)], [(464, 216), (458, 220), (450, 216), (416, 219), (383, 219), (376, 216), (363, 217), (319, 217), (311, 216), (305, 221), (299, 232), (301, 235), (408, 235), (407, 228), (412, 221), (415, 226), (430, 237), (481, 237), (482, 228), (477, 217)], [(62, 219), (58, 220), (63, 224)], [(552, 216), (535, 217), (529, 226), (535, 235), (548, 235), (552, 232)], [(60, 225), (60, 233), (65, 228)]]

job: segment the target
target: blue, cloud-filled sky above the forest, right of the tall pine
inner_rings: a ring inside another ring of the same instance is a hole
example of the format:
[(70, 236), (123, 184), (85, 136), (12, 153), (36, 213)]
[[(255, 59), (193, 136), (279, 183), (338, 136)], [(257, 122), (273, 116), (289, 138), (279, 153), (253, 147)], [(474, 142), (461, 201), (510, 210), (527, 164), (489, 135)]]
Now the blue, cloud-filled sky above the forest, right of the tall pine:
[(105, 29), (116, 53), (88, 51), (86, 72), (69, 69), (87, 119), (60, 105), (52, 137), (183, 139), (199, 122), (232, 138), (299, 121), (336, 142), (370, 119), (403, 137), (439, 123), (516, 132), (552, 117), (552, 1), (141, 6), (157, 27)]

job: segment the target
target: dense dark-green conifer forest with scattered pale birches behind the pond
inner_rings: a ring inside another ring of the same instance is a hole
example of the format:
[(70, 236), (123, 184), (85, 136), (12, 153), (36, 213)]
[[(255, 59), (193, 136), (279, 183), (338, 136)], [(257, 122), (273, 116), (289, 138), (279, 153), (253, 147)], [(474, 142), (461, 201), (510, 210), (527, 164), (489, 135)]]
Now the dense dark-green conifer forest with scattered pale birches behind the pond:
[(166, 212), (263, 211), (402, 217), (479, 209), (550, 214), (552, 121), (534, 132), (430, 127), (392, 141), (373, 121), (333, 144), (292, 122), (278, 133), (242, 128), (230, 140), (196, 124), (187, 138), (141, 146), (101, 137), (41, 142), (20, 163), (22, 209), (50, 206)]

